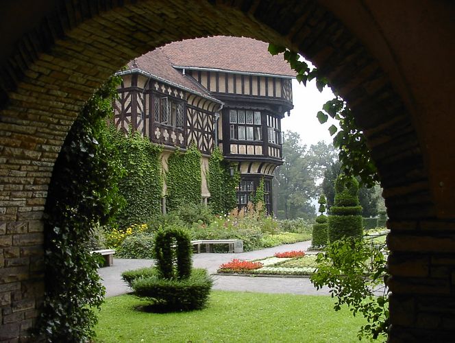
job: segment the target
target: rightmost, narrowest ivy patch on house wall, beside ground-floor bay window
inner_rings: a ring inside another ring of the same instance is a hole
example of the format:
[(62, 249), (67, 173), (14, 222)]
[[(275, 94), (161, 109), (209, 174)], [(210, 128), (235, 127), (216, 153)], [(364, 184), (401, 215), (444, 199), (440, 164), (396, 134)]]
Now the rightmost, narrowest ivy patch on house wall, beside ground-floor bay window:
[(219, 147), (215, 147), (208, 161), (208, 191), (212, 211), (228, 213), (237, 206), (236, 187), (240, 180), (237, 172), (230, 174), (230, 163), (224, 160)]

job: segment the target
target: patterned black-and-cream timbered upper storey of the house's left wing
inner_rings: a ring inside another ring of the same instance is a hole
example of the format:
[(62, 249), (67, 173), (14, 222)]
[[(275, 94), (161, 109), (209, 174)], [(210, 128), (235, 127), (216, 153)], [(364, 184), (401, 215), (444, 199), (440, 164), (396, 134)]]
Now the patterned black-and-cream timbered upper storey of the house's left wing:
[(186, 148), (196, 143), (204, 154), (214, 147), (214, 111), (219, 104), (158, 80), (123, 76), (114, 103), (116, 127), (140, 132), (158, 144)]

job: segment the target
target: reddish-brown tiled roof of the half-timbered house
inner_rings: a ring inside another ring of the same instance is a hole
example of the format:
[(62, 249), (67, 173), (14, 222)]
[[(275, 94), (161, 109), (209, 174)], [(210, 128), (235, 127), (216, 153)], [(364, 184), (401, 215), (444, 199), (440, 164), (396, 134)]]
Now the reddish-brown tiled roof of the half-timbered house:
[(247, 73), (295, 76), (282, 54), (271, 56), (268, 44), (245, 37), (215, 36), (182, 40), (164, 45), (128, 63), (165, 80), (208, 94), (197, 82), (172, 66), (222, 69)]

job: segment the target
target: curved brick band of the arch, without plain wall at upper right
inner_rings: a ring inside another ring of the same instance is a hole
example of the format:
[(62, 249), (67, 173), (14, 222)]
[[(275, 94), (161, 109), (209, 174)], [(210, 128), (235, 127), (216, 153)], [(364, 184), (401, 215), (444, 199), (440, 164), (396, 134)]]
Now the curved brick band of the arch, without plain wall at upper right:
[[(5, 266), (0, 284), (6, 289), (1, 291), (0, 338), (25, 335), (37, 315), (47, 185), (66, 132), (86, 99), (128, 60), (173, 40), (216, 34), (250, 36), (302, 51), (349, 102), (378, 165), (391, 218), (391, 337), (434, 338), (431, 329), (450, 331), (441, 313), (450, 309), (445, 298), (454, 292), (453, 244), (444, 232), (422, 233), (441, 231), (442, 224), (433, 220), (439, 203), (408, 95), (399, 77), (384, 72), (386, 58), (374, 58), (374, 49), (360, 43), (361, 34), (355, 36), (337, 19), (343, 11), (332, 13), (314, 1), (125, 2), (51, 4), (45, 19), (20, 36), (8, 59), (0, 60)], [(336, 10), (330, 1), (321, 2)], [(430, 260), (437, 257), (452, 262), (436, 262), (432, 279)], [(425, 307), (434, 303), (435, 294), (439, 305)], [(419, 316), (438, 318), (437, 324), (425, 327)]]

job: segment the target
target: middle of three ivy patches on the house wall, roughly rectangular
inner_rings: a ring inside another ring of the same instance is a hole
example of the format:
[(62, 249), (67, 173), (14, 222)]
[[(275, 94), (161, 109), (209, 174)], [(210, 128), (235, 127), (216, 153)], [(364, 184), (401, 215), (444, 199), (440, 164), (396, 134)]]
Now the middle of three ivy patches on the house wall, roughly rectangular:
[(175, 150), (169, 156), (166, 174), (167, 207), (170, 211), (181, 204), (201, 202), (201, 152), (193, 143), (186, 152)]

